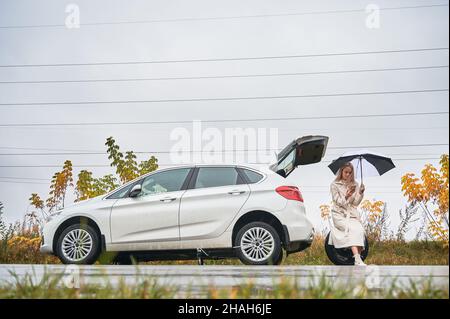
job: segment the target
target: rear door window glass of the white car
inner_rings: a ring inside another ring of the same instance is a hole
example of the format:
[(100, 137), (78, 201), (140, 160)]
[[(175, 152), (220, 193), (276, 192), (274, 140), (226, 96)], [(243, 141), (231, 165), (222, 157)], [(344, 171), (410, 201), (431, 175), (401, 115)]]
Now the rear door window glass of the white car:
[(194, 188), (243, 184), (234, 167), (201, 167)]

